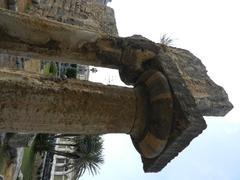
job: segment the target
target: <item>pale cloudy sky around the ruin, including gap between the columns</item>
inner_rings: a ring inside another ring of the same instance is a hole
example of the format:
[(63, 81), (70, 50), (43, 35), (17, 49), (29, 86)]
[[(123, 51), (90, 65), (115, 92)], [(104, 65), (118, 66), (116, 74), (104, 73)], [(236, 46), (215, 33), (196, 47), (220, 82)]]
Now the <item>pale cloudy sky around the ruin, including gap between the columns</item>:
[[(205, 117), (207, 129), (161, 172), (145, 174), (130, 137), (105, 135), (105, 164), (84, 180), (239, 180), (240, 179), (240, 1), (112, 0), (119, 35), (140, 34), (159, 42), (167, 34), (173, 46), (190, 50), (208, 75), (223, 86), (234, 109), (225, 117)], [(120, 84), (118, 72), (99, 69), (91, 80)]]

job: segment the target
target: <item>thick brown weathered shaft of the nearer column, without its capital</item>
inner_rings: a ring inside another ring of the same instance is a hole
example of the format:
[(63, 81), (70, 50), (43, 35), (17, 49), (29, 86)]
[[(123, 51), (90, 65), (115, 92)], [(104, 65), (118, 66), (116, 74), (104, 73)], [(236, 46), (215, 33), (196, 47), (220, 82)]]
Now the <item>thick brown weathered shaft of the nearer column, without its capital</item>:
[(129, 133), (132, 89), (0, 71), (0, 131), (67, 134)]

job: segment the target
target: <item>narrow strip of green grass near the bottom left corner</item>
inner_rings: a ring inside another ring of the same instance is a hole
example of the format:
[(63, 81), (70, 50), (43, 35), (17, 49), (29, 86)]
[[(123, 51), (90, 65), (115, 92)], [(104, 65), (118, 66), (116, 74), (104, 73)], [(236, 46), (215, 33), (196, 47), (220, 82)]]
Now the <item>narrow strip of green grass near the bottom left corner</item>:
[(24, 148), (21, 170), (24, 180), (32, 180), (32, 172), (35, 161), (34, 143), (30, 147)]

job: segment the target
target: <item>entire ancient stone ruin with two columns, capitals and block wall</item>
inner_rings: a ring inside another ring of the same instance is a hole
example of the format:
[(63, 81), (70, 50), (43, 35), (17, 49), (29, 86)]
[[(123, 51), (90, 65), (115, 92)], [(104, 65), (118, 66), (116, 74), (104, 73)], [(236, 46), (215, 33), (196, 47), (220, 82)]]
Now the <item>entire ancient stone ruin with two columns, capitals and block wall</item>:
[(126, 133), (145, 172), (158, 172), (232, 104), (191, 52), (121, 38), (106, 1), (32, 1), (0, 9), (0, 53), (118, 69), (133, 88), (0, 70), (0, 131)]

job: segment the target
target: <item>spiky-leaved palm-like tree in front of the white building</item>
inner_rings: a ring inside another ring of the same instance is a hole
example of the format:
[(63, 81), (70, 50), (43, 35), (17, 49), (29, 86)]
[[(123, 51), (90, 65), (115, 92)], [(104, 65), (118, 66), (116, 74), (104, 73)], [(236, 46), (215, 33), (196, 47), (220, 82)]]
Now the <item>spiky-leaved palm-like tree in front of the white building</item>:
[[(62, 141), (57, 142), (56, 139)], [(56, 146), (68, 147), (65, 150), (56, 149)], [(93, 135), (46, 135), (39, 134), (36, 149), (47, 151), (54, 155), (64, 156), (69, 159), (65, 165), (65, 173), (74, 172), (78, 179), (86, 170), (95, 175), (103, 164), (103, 140), (100, 136)]]

